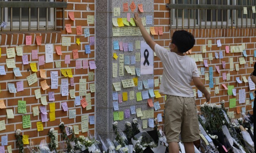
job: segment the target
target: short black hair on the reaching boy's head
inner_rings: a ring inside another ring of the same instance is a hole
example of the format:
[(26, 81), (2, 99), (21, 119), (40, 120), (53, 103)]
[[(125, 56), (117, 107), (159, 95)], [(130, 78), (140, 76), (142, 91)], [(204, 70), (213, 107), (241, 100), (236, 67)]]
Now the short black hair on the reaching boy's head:
[(173, 32), (172, 42), (176, 45), (179, 52), (188, 52), (195, 45), (193, 34), (186, 30), (177, 30)]

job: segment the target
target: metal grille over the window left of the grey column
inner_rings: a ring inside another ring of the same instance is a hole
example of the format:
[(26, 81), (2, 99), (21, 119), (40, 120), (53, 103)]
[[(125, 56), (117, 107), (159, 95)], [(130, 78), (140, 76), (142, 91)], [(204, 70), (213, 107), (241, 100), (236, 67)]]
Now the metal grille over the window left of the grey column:
[[(1, 21), (4, 21), (4, 9), (8, 8), (9, 9), (9, 19), (8, 21), (10, 22), (10, 31), (13, 31), (13, 9), (17, 9), (20, 11), (19, 12), (19, 30), (25, 30), (22, 29), (22, 9), (28, 9), (28, 20), (26, 22), (28, 22), (28, 29), (26, 30), (31, 30), (31, 9), (34, 8), (36, 9), (37, 12), (37, 17), (36, 17), (36, 22), (37, 22), (37, 30), (39, 30), (39, 20), (42, 20), (42, 15), (40, 14), (40, 10), (42, 9), (46, 9), (45, 11), (45, 15), (44, 15), (44, 21), (45, 21), (45, 30), (48, 30), (48, 21), (49, 21), (49, 15), (48, 15), (48, 10), (50, 8), (54, 8), (54, 29), (57, 29), (57, 25), (56, 25), (56, 11), (57, 8), (62, 9), (62, 29), (64, 30), (65, 26), (65, 9), (67, 7), (67, 2), (48, 2), (48, 0), (46, 0), (45, 2), (42, 2), (41, 0), (37, 0), (37, 1), (0, 1), (0, 15), (1, 15)], [(42, 11), (41, 11), (42, 13)], [(1, 31), (3, 31), (4, 28), (1, 27)]]

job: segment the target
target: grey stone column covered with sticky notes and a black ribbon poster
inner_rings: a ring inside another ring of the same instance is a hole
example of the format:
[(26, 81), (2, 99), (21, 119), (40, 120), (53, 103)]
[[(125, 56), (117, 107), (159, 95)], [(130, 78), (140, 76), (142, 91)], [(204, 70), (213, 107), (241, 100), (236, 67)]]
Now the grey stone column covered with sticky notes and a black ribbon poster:
[[(136, 75), (130, 75), (124, 69), (124, 75), (118, 75), (118, 78), (112, 77), (112, 63), (119, 63), (118, 60), (113, 58), (113, 53), (116, 52), (117, 55), (125, 54), (125, 55), (135, 55), (136, 52), (140, 52), (140, 50), (135, 50), (135, 41), (136, 40), (144, 40), (142, 36), (126, 36), (126, 37), (113, 37), (112, 36), (112, 18), (114, 17), (114, 7), (120, 7), (120, 17), (127, 17), (127, 12), (123, 12), (123, 3), (128, 2), (128, 6), (130, 6), (132, 0), (96, 0), (96, 132), (102, 138), (114, 138), (114, 133), (112, 129), (113, 120), (113, 100), (112, 100), (112, 92), (113, 82), (121, 82), (121, 80), (131, 79)], [(151, 15), (153, 17), (154, 13), (154, 2), (153, 0), (135, 0), (136, 3), (136, 11), (138, 10), (138, 4), (143, 4), (144, 13), (141, 13), (142, 17), (146, 17), (146, 15)], [(134, 16), (134, 13), (131, 12), (129, 7), (128, 13), (131, 13), (131, 17)], [(147, 27), (153, 25), (147, 25)], [(120, 50), (113, 50), (113, 41), (123, 41), (123, 42), (131, 42), (133, 43), (133, 52), (123, 52)], [(136, 65), (132, 65), (135, 67), (140, 67), (140, 62), (136, 62)], [(119, 68), (119, 64), (118, 64)], [(118, 73), (119, 74), (119, 73)], [(138, 77), (139, 81), (153, 79), (153, 75), (142, 75)], [(122, 83), (121, 83), (122, 87)], [(119, 103), (119, 111), (125, 111), (125, 109), (129, 109), (131, 105), (136, 105), (136, 108), (141, 108), (141, 110), (153, 109), (147, 106), (147, 100), (136, 101), (136, 92), (138, 91), (138, 87), (133, 88), (121, 88), (122, 92), (128, 92), (128, 101), (124, 101), (123, 103)], [(129, 91), (134, 90), (135, 99), (129, 100)], [(144, 90), (143, 90), (144, 91)], [(124, 119), (123, 121), (118, 121), (118, 128), (123, 130), (125, 128), (125, 121), (131, 122), (133, 118), (136, 117), (136, 114), (131, 114), (131, 117), (128, 119)], [(142, 125), (142, 121), (138, 118), (139, 123)]]

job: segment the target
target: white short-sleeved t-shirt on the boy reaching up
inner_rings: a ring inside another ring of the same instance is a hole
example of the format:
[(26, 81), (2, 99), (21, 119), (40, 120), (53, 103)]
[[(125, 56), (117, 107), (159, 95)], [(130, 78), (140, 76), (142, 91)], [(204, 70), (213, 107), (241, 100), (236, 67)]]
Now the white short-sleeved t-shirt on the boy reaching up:
[(162, 61), (164, 72), (160, 93), (181, 97), (194, 97), (190, 86), (192, 77), (200, 77), (195, 61), (188, 56), (179, 56), (175, 52), (155, 45), (155, 54)]

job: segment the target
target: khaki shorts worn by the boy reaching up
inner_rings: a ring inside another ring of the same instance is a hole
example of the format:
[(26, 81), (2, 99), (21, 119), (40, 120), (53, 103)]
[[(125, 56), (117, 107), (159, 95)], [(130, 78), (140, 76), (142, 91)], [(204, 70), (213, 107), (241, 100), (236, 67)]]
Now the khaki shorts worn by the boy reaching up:
[(199, 123), (194, 97), (167, 95), (164, 110), (164, 128), (167, 143), (199, 140)]

